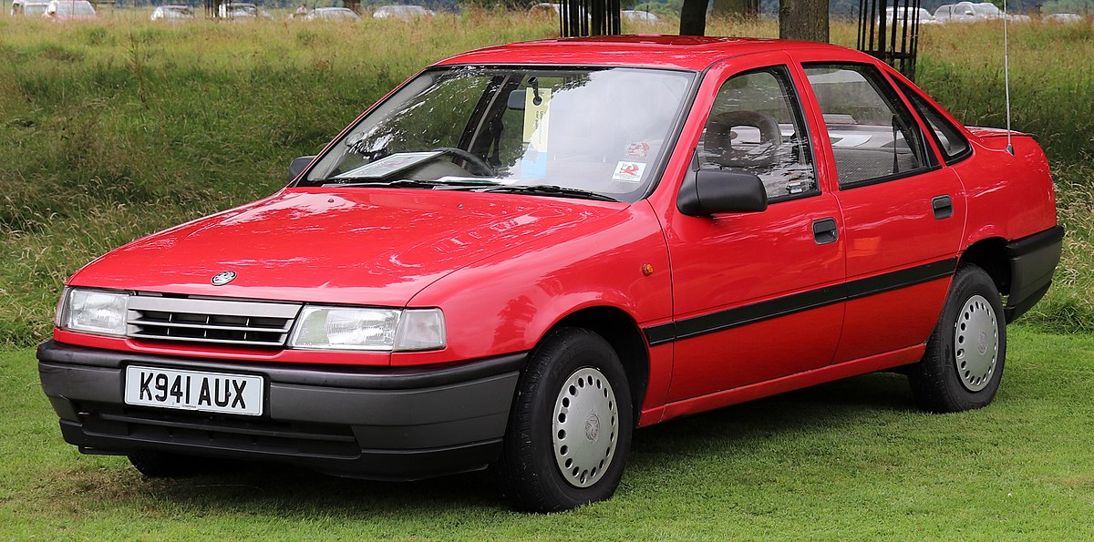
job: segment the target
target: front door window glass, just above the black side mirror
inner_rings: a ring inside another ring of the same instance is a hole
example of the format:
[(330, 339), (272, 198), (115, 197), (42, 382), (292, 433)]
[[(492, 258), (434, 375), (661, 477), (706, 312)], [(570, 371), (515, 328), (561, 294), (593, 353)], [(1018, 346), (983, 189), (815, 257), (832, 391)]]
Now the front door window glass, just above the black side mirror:
[(756, 174), (771, 202), (817, 193), (808, 134), (783, 67), (722, 83), (698, 154), (700, 167)]

